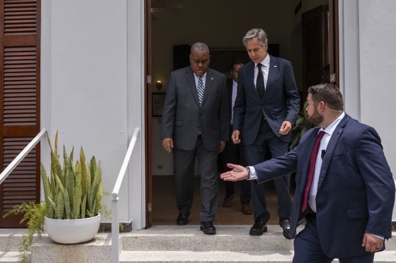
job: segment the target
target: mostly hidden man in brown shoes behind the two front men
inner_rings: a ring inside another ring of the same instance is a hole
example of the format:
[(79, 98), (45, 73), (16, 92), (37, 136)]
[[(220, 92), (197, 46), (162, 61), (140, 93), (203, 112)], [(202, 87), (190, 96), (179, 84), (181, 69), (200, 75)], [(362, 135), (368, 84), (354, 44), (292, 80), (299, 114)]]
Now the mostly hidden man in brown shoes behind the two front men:
[[(231, 79), (227, 79), (227, 87), (228, 87), (228, 106), (230, 112), (230, 135), (232, 134), (233, 128), (233, 107), (235, 103), (235, 99), (237, 97), (237, 87), (238, 87), (238, 71), (245, 65), (243, 60), (236, 60), (231, 64), (230, 74), (232, 76)], [(226, 147), (219, 154), (219, 160), (221, 162), (221, 170), (223, 172), (229, 171), (230, 169), (227, 167), (227, 163), (236, 163), (243, 166), (246, 166), (245, 160), (245, 152), (244, 148), (241, 144), (234, 144), (231, 140), (226, 143)], [(223, 207), (231, 207), (232, 199), (235, 193), (234, 182), (225, 182), (225, 190), (226, 194), (223, 201)], [(242, 204), (241, 211), (243, 214), (251, 215), (253, 211), (250, 207), (250, 182), (242, 181), (241, 183), (241, 194), (240, 200)]]

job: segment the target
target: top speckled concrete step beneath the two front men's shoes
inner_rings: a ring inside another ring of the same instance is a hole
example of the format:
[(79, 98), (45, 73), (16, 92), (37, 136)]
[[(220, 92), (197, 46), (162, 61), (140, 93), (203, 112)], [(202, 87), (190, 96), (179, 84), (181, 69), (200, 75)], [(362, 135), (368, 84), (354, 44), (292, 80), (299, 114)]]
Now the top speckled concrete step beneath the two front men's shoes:
[[(261, 236), (249, 235), (251, 225), (216, 225), (215, 235), (206, 235), (199, 225), (157, 225), (123, 234), (124, 251), (289, 251), (293, 240), (282, 228), (268, 225)], [(302, 229), (302, 228), (301, 228)]]

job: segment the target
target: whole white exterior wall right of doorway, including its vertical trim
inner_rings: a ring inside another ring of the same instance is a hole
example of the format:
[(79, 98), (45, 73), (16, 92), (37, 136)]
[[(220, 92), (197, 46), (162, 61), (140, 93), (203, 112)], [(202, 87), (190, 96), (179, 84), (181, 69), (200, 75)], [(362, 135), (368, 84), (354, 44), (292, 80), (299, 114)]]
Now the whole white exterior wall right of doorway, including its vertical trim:
[[(396, 1), (340, 0), (340, 88), (345, 109), (373, 126), (396, 175)], [(396, 221), (394, 208), (393, 220)]]

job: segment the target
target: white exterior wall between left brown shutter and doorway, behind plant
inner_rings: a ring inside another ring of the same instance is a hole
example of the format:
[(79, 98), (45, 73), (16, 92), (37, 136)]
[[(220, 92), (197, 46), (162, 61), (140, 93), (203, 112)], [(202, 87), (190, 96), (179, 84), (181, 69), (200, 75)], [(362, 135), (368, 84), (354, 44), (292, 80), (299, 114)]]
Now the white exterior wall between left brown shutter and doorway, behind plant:
[[(101, 160), (108, 192), (141, 128), (119, 193), (120, 221), (134, 229), (145, 226), (143, 10), (143, 0), (42, 0), (42, 127), (52, 141), (58, 129), (59, 150), (74, 145), (75, 159), (83, 146)], [(49, 167), (46, 143), (41, 159)]]

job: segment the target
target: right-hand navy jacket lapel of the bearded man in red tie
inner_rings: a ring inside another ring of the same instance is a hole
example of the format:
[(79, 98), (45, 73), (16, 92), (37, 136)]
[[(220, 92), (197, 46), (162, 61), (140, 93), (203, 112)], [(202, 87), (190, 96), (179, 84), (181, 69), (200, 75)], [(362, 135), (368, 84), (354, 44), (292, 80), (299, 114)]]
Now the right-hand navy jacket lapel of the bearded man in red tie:
[(329, 164), (333, 157), (334, 150), (336, 149), (338, 140), (340, 139), (341, 135), (343, 134), (344, 127), (347, 124), (349, 118), (350, 117), (347, 114), (345, 114), (344, 118), (340, 121), (340, 123), (338, 124), (338, 126), (336, 127), (336, 129), (334, 130), (334, 132), (330, 138), (330, 141), (326, 148), (326, 153), (323, 156), (322, 166), (320, 167), (320, 174), (319, 174), (319, 181), (318, 181), (318, 188), (317, 188), (318, 190), (319, 190), (320, 186), (322, 185), (323, 180), (325, 179), (327, 169), (329, 168)]

